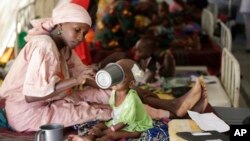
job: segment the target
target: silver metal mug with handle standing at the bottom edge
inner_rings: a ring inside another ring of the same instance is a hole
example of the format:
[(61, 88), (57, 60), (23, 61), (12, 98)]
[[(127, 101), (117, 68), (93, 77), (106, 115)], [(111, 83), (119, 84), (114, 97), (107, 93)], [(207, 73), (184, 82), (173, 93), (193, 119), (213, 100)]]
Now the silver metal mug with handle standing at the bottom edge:
[(36, 134), (36, 141), (63, 141), (63, 125), (42, 125)]

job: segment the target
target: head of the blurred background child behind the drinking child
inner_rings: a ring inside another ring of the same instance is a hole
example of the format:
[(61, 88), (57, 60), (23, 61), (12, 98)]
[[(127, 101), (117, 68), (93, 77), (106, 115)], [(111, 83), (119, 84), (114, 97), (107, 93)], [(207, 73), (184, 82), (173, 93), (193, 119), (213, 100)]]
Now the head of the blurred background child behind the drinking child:
[(135, 59), (141, 60), (150, 57), (157, 46), (154, 37), (145, 36), (137, 41), (135, 45)]

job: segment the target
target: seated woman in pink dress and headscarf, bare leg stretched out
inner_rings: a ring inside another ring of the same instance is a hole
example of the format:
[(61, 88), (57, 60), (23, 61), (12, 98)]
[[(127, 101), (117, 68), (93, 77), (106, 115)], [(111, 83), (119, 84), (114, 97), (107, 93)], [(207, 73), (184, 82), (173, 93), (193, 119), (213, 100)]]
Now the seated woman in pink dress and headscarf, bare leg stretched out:
[[(83, 65), (73, 51), (91, 26), (87, 11), (77, 4), (62, 4), (53, 10), (52, 18), (33, 21), (32, 25), (27, 43), (0, 89), (0, 96), (6, 99), (10, 126), (19, 132), (37, 131), (48, 123), (68, 127), (94, 119), (110, 119), (110, 110), (90, 105), (90, 102), (108, 104), (110, 90), (95, 88), (93, 69)], [(79, 84), (86, 87), (72, 91)], [(142, 101), (152, 101), (152, 105), (160, 108), (170, 107), (171, 112), (182, 116), (201, 101), (198, 91), (171, 102), (145, 97), (144, 91), (141, 94)], [(189, 100), (182, 104), (185, 99)]]

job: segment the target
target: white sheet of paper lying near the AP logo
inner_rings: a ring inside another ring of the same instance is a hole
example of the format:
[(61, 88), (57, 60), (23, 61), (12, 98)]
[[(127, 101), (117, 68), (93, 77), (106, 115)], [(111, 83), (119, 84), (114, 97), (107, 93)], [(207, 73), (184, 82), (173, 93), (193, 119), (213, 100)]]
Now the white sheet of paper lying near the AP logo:
[(229, 131), (230, 127), (214, 113), (197, 113), (188, 111), (188, 115), (204, 131), (218, 131), (220, 133)]

